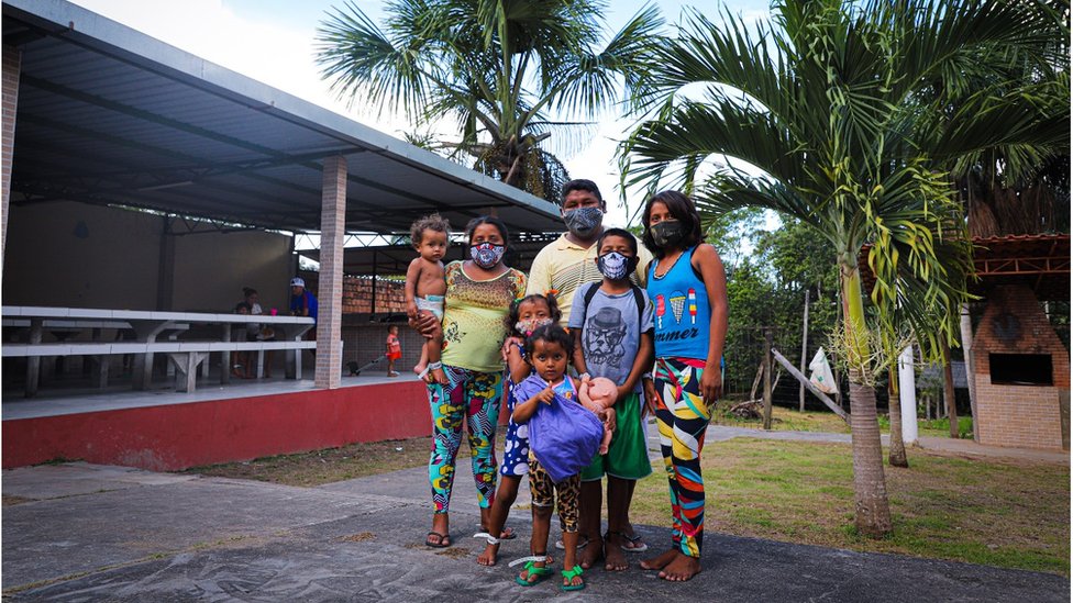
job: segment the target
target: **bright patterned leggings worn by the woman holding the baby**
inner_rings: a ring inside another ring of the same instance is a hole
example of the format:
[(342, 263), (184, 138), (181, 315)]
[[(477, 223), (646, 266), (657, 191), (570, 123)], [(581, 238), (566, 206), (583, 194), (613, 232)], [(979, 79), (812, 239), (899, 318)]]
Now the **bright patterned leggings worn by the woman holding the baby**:
[(446, 365), (443, 370), (451, 384), (430, 383), (428, 387), (432, 410), (432, 454), (429, 457), (432, 503), (436, 513), (446, 513), (451, 504), (455, 457), (462, 445), (462, 422), (465, 420), (477, 502), (482, 509), (487, 509), (496, 498), (496, 421), (502, 398), (502, 375)]

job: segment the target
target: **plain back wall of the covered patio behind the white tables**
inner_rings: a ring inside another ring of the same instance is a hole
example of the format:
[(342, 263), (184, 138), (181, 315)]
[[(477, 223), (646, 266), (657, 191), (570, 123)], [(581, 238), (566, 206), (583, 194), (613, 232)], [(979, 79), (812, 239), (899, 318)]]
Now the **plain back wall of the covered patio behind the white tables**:
[(290, 237), (261, 231), (173, 236), (173, 293), (158, 308), (163, 220), (76, 202), (12, 204), (3, 303), (230, 312), (245, 286), (285, 311)]

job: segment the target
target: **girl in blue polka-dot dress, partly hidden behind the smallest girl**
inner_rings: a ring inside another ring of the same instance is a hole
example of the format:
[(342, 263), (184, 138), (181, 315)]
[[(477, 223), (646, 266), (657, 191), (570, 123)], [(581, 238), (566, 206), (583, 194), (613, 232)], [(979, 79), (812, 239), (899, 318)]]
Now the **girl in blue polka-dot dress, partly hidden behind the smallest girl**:
[[(538, 327), (545, 324), (558, 324), (562, 312), (554, 295), (532, 294), (518, 300), (507, 313), (507, 330), (510, 336), (504, 345), (504, 356), (507, 359), (507, 379), (504, 380), (504, 399), (507, 410), (513, 413), (517, 405), (515, 388), (532, 372), (532, 367), (526, 361), (526, 338)], [(477, 557), (482, 566), (495, 566), (499, 554), (499, 540), (513, 538), (513, 534), (502, 532), (510, 513), (510, 505), (518, 499), (518, 485), (529, 472), (529, 425), (519, 425), (513, 417), (507, 424), (507, 436), (504, 438), (504, 461), (499, 467), (502, 480), (496, 491), (496, 501), (491, 506), (491, 520), (484, 526), (487, 532), (477, 536), (488, 540), (484, 552)], [(494, 537), (493, 534), (500, 534)]]

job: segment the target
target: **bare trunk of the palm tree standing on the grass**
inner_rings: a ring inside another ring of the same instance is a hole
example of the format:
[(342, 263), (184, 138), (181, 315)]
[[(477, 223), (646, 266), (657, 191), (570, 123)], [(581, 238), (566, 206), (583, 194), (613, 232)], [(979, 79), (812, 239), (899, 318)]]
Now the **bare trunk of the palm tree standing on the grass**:
[(855, 263), (839, 264), (850, 366), (854, 523), (859, 533), (880, 537), (891, 533), (891, 504), (883, 474), (883, 445), (875, 412), (875, 389), (867, 384), (862, 372), (869, 354), (869, 332), (864, 322), (864, 301), (861, 299), (861, 272)]

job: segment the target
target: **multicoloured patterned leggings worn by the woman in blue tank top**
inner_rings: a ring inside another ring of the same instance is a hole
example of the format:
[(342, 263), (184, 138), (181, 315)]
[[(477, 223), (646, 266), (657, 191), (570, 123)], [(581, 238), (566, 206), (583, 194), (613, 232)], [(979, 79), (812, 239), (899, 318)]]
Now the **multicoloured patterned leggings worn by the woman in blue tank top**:
[(700, 397), (704, 365), (690, 358), (656, 358), (654, 375), (660, 448), (671, 483), (671, 540), (689, 557), (700, 557), (704, 543), (700, 449), (711, 418)]

